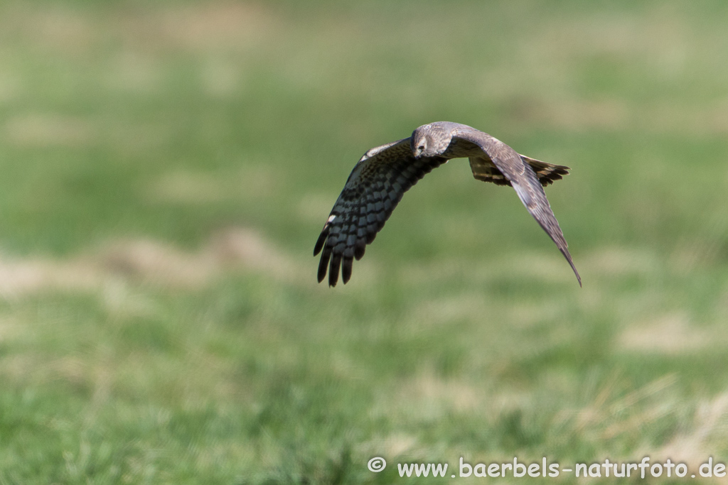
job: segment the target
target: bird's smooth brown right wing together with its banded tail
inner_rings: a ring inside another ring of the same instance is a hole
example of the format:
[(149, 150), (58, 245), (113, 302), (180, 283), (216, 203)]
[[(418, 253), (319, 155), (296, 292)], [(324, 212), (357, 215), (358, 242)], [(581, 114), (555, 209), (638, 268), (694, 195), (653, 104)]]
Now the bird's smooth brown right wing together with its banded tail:
[[(547, 185), (568, 173), (566, 172), (567, 167), (523, 157), (502, 141), (474, 128), (459, 129), (453, 135), (453, 143), (464, 143), (469, 148), (471, 145), (476, 145), (480, 148), (482, 154), (470, 157), (470, 167), (475, 178), (499, 185), (511, 185), (515, 189), (526, 209), (529, 209), (536, 222), (553, 239), (563, 256), (566, 257), (566, 261), (571, 265), (571, 269), (574, 270), (577, 281), (579, 281), (579, 286), (581, 286), (582, 278), (574, 266), (574, 261), (571, 260), (569, 245), (566, 244), (566, 239), (563, 237), (542, 187), (542, 184)], [(537, 162), (536, 171), (532, 168), (532, 162)], [(537, 173), (542, 176), (539, 177)]]

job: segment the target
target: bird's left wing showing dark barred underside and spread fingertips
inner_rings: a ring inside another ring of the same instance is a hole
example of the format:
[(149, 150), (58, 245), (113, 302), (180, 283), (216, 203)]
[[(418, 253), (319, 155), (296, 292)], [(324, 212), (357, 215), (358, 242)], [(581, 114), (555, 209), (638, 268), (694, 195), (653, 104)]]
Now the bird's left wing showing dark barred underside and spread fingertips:
[(341, 267), (346, 284), (354, 258), (361, 259), (404, 193), (446, 161), (440, 156), (415, 159), (409, 138), (365, 153), (349, 175), (314, 247), (314, 256), (323, 249), (318, 281), (323, 281), (328, 270), (328, 284), (336, 286)]

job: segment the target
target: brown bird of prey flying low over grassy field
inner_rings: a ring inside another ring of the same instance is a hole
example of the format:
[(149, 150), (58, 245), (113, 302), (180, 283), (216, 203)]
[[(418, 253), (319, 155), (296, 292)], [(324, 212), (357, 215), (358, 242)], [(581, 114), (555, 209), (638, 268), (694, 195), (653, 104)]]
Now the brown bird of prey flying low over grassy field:
[(366, 245), (374, 241), (404, 193), (432, 169), (450, 159), (466, 157), (477, 180), (515, 189), (566, 257), (581, 286), (582, 278), (542, 188), (567, 175), (569, 167), (519, 155), (491, 135), (451, 121), (424, 124), (411, 137), (372, 148), (355, 165), (314, 247), (314, 256), (323, 249), (319, 283), (328, 270), (328, 284), (336, 286), (341, 268), (346, 284), (352, 276), (354, 258), (361, 259)]

